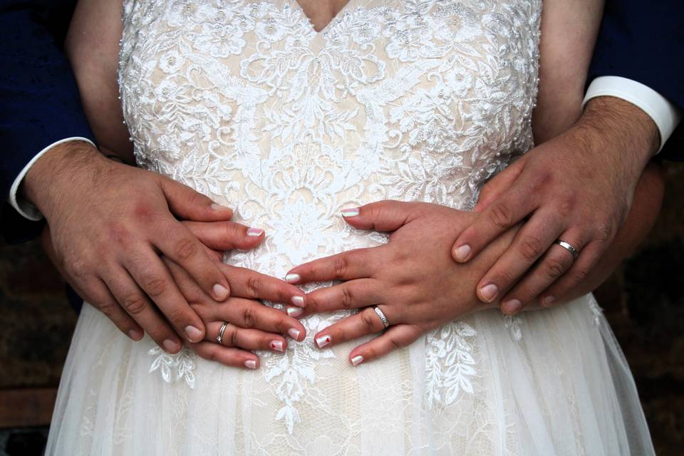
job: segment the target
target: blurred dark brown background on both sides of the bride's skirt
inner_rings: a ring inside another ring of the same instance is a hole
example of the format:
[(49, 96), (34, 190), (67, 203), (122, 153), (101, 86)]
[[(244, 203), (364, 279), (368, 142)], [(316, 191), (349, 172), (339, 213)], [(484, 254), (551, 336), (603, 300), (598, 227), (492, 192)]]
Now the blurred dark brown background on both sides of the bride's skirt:
[[(684, 164), (668, 164), (646, 242), (596, 291), (630, 363), (655, 450), (684, 448)], [(0, 244), (0, 456), (40, 455), (76, 324), (38, 242)]]

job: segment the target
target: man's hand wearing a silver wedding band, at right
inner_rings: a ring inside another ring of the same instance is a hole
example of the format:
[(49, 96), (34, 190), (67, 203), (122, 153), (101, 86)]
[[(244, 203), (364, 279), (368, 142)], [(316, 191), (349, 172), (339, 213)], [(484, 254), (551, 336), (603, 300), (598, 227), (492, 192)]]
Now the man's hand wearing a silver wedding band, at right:
[[(617, 98), (591, 100), (566, 133), (535, 147), (485, 185), (481, 216), (452, 248), (470, 261), (527, 217), (512, 246), (477, 285), (513, 314), (540, 297), (549, 306), (591, 271), (623, 224), (646, 163), (658, 148), (646, 113)], [(579, 253), (554, 245), (556, 239)]]

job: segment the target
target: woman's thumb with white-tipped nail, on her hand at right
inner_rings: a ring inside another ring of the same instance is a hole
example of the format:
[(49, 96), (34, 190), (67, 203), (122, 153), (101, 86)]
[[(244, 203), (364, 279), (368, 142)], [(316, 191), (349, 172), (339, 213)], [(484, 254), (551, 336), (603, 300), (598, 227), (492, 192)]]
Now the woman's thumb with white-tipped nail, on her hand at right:
[(352, 227), (375, 229), (377, 231), (396, 231), (410, 218), (413, 203), (385, 199), (361, 207), (342, 210), (342, 217)]

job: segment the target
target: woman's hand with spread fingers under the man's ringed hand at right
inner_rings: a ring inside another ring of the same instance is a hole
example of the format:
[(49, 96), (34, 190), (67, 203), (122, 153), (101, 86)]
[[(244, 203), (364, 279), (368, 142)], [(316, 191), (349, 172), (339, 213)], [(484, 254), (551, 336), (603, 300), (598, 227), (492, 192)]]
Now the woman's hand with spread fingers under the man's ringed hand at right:
[(455, 318), (497, 306), (477, 299), (475, 285), (508, 247), (514, 229), (489, 244), (472, 263), (457, 264), (450, 247), (477, 214), (437, 204), (387, 200), (346, 209), (343, 217), (356, 228), (393, 233), (388, 244), (316, 259), (287, 274), (291, 284), (343, 280), (312, 291), (306, 297), (306, 309), (289, 311), (293, 316), (363, 308), (317, 333), (319, 348), (383, 331), (385, 326), (373, 306), (378, 306), (390, 326), (351, 351), (349, 360), (354, 365), (408, 346)]

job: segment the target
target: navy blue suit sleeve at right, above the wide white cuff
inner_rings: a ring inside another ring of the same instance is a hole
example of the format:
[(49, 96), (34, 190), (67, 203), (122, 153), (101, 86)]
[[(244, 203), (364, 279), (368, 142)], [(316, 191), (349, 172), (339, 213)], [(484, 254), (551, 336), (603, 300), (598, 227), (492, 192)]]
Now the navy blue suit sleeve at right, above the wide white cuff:
[[(589, 81), (622, 76), (638, 81), (684, 109), (684, 1), (607, 0)], [(684, 160), (684, 127), (660, 157)]]

